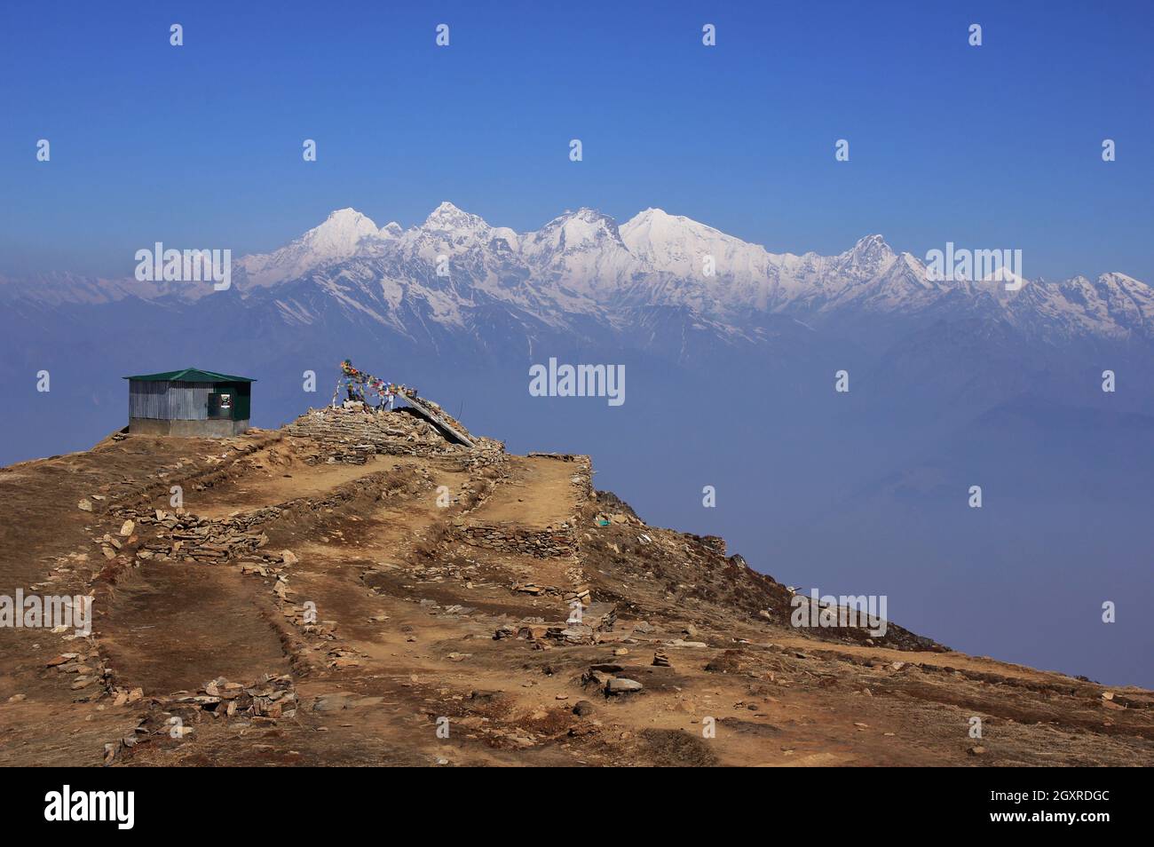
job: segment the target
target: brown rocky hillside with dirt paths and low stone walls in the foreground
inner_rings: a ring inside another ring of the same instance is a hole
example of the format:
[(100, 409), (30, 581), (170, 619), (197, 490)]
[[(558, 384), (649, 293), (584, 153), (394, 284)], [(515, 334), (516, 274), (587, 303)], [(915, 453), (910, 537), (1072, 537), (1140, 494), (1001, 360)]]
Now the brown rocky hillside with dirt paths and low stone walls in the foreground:
[(1151, 692), (795, 629), (591, 473), (360, 408), (2, 469), (0, 595), (92, 628), (0, 629), (0, 764), (1154, 764)]

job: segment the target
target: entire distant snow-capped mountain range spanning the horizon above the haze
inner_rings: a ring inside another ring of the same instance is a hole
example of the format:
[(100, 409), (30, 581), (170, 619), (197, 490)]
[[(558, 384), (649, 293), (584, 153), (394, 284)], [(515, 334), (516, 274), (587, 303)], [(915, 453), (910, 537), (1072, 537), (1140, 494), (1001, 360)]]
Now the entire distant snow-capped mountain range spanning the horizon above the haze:
[[(713, 273), (707, 273), (709, 264)], [(0, 286), (47, 302), (240, 297), (291, 325), (332, 308), (410, 335), (413, 321), (475, 330), (494, 310), (524, 325), (636, 332), (658, 313), (695, 330), (756, 340), (777, 316), (805, 327), (869, 317), (980, 315), (1029, 338), (1154, 339), (1154, 290), (1123, 273), (1051, 283), (932, 280), (926, 264), (868, 235), (845, 253), (770, 253), (687, 217), (646, 209), (620, 226), (578, 209), (535, 232), (492, 226), (442, 203), (418, 226), (377, 226), (353, 209), (268, 254), (233, 261), (233, 290), (53, 276)], [(526, 330), (531, 333), (531, 329)]]

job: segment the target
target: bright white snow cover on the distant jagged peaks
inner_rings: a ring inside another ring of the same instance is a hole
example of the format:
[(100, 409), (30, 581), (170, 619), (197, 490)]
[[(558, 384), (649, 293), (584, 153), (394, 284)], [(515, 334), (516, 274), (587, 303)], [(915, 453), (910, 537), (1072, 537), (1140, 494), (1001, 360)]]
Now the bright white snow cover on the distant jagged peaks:
[[(430, 271), (444, 255), (448, 277)], [(733, 325), (751, 313), (818, 320), (842, 310), (915, 314), (980, 301), (1012, 323), (1044, 323), (1040, 331), (1154, 337), (1154, 290), (1124, 273), (1028, 285), (1009, 270), (981, 282), (931, 280), (920, 258), (896, 253), (881, 234), (832, 256), (774, 254), (654, 208), (619, 226), (583, 207), (520, 234), (448, 201), (407, 230), (396, 222), (377, 228), (354, 209), (338, 209), (288, 245), (246, 256), (240, 265), (241, 291), (316, 273), (327, 291), (347, 297), (344, 283), (334, 282), (344, 276), (377, 285), (376, 295), (392, 308), (415, 297), (435, 306), (433, 320), (454, 324), (478, 297), (559, 325), (567, 314), (652, 306), (688, 308)], [(1005, 291), (1007, 283), (1022, 285)]]

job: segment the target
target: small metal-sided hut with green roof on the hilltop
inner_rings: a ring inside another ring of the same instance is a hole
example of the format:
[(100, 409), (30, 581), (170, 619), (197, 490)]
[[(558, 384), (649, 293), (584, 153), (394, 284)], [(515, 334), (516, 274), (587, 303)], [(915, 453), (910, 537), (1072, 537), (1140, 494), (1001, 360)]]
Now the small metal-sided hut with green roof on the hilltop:
[(255, 380), (247, 376), (185, 368), (125, 378), (134, 435), (226, 439), (248, 429)]

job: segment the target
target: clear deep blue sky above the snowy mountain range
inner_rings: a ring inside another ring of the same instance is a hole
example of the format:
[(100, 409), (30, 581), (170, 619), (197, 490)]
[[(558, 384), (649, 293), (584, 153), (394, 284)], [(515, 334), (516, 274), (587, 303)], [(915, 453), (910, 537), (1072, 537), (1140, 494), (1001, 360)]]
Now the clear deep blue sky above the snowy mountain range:
[(404, 6), (7, 2), (0, 272), (130, 275), (157, 240), (248, 253), (451, 200), (517, 230), (653, 205), (773, 250), (881, 232), (1154, 283), (1152, 3)]

